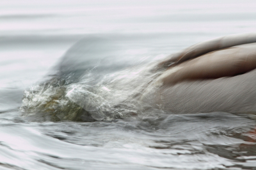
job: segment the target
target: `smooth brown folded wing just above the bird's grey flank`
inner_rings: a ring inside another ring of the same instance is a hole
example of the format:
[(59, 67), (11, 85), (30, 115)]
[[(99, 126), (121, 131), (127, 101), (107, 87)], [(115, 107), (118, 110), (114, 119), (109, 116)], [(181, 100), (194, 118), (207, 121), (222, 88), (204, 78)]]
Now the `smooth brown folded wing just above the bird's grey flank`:
[(166, 70), (163, 82), (164, 84), (175, 84), (184, 80), (218, 79), (246, 73), (255, 68), (256, 43), (248, 43), (216, 50), (199, 58), (185, 61)]

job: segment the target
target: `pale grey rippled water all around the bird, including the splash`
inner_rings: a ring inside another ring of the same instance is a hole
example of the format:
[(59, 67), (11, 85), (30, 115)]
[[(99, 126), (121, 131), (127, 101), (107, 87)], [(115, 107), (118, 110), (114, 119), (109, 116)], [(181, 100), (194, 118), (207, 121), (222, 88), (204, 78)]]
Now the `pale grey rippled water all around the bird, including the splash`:
[(0, 169), (255, 169), (253, 114), (138, 100), (168, 54), (255, 31), (254, 1), (0, 4)]

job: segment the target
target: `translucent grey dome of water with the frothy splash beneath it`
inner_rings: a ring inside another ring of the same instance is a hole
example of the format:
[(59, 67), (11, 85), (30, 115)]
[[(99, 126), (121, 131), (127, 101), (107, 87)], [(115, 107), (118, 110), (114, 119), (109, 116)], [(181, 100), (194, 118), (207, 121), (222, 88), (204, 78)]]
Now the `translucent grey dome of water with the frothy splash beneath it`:
[(84, 38), (54, 74), (24, 92), (20, 111), (36, 121), (102, 121), (157, 114), (141, 92), (158, 75), (155, 64), (128, 58), (115, 40)]

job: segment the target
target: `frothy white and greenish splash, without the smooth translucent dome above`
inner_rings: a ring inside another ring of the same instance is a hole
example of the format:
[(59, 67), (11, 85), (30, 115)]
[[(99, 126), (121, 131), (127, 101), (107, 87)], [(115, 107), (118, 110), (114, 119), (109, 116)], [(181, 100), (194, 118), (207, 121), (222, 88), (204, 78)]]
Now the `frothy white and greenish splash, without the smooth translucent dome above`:
[(20, 111), (43, 121), (108, 121), (141, 116), (150, 108), (140, 98), (157, 76), (152, 72), (154, 66), (150, 63), (107, 73), (96, 84), (92, 72), (74, 82), (69, 81), (72, 73), (65, 79), (53, 77), (24, 92)]

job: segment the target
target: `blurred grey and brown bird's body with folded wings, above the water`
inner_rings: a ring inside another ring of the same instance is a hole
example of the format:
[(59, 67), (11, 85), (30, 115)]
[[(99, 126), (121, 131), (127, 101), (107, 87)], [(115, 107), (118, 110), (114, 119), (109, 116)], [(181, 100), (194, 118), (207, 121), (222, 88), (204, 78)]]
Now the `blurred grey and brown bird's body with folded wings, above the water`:
[(256, 112), (255, 42), (255, 34), (232, 35), (174, 54), (143, 101), (167, 112)]

